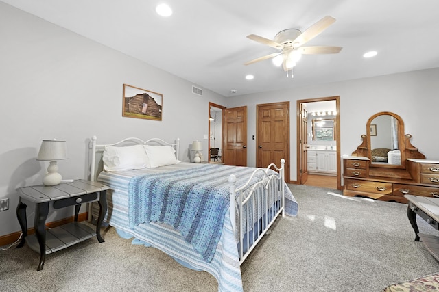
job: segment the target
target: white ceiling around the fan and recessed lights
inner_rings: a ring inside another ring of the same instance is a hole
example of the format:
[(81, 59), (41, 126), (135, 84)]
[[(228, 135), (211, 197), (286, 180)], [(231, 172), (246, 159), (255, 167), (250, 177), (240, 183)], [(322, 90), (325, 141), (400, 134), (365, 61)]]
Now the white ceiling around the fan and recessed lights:
[[(223, 96), (439, 67), (438, 0), (167, 0), (169, 18), (155, 12), (161, 0), (3, 2)], [(273, 39), (327, 15), (337, 21), (307, 45), (339, 54), (304, 55), (293, 79), (270, 59), (244, 66), (276, 52), (249, 34)], [(370, 50), (378, 55), (364, 59)]]

